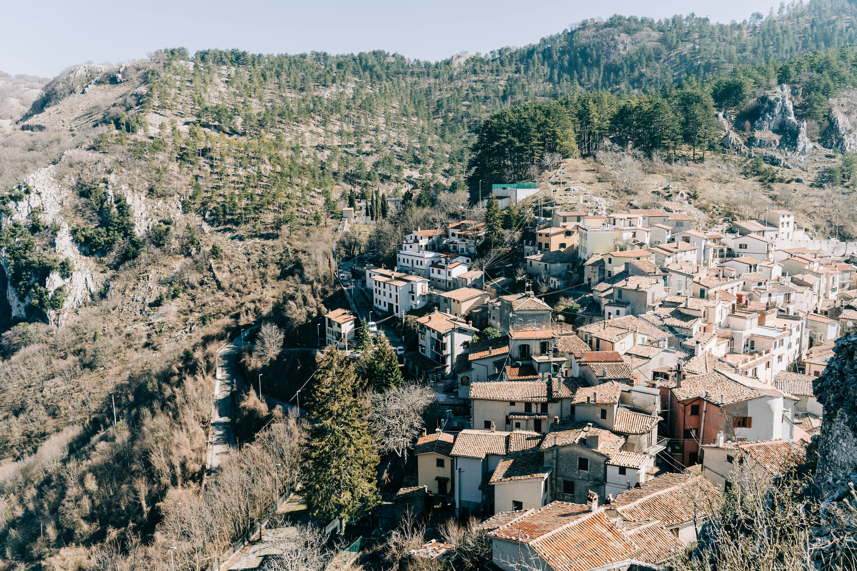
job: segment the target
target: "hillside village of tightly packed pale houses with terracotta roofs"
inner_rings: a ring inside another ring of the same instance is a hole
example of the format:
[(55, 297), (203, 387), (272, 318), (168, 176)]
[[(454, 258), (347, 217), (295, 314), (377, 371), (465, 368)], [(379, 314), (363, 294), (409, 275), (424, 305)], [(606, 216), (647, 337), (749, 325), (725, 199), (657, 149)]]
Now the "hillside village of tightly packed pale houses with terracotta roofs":
[[(503, 210), (544, 194), (491, 192)], [(440, 502), (482, 519), (507, 571), (658, 568), (697, 541), (737, 473), (770, 481), (806, 455), (822, 422), (812, 380), (857, 323), (857, 266), (792, 211), (706, 229), (680, 202), (608, 212), (565, 194), (535, 203), (536, 228), (513, 246), (525, 277), (474, 263), (484, 222), (412, 229), (395, 268), (340, 275), (356, 311), (327, 314), (326, 344), (348, 350), (362, 326), (418, 316), (404, 371), (450, 405), (379, 527)], [(557, 293), (577, 309), (550, 305)]]

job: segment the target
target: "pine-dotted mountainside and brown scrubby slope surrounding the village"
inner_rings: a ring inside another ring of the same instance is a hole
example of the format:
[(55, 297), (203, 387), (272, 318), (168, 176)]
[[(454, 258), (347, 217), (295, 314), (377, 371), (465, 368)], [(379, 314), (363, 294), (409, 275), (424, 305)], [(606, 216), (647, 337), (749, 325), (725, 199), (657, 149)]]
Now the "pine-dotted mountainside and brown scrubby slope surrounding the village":
[[(243, 367), (267, 394), (292, 398), (315, 368), (295, 352), (344, 304), (332, 247), (390, 261), (404, 232), (463, 216), (489, 218), (500, 235), (500, 215), (475, 206), (480, 181), (544, 178), (544, 159), (584, 156), (593, 184), (625, 206), (643, 204), (632, 201), (644, 164), (671, 169), (705, 215), (794, 201), (800, 184), (818, 191), (800, 207), (830, 219), (831, 188), (842, 199), (853, 186), (854, 155), (818, 152), (816, 180), (761, 154), (721, 154), (718, 138), (730, 129), (748, 141), (759, 98), (786, 83), (806, 135), (824, 139), (831, 100), (857, 75), (855, 16), (844, 0), (729, 24), (614, 16), (441, 62), (173, 48), (46, 85), (21, 80), (32, 106), (0, 124), (0, 287), (11, 292), (0, 301), (0, 571), (165, 569), (173, 544), (177, 568), (207, 565), (276, 482), (299, 479), (307, 433), (243, 387), (241, 430), (254, 445), (201, 495), (220, 345), (276, 324), (292, 353), (280, 342), (247, 352)], [(704, 162), (712, 155), (726, 158)], [(764, 193), (717, 194), (739, 180)], [(705, 196), (713, 181), (721, 188)], [(405, 202), (387, 212), (376, 200), (371, 235), (334, 232), (342, 207), (381, 195)], [(503, 224), (531, 220), (512, 209)], [(355, 401), (346, 412), (363, 423), (371, 407)], [(375, 444), (361, 444), (371, 472)], [(289, 469), (274, 475), (276, 462)], [(126, 561), (135, 553), (140, 562)]]

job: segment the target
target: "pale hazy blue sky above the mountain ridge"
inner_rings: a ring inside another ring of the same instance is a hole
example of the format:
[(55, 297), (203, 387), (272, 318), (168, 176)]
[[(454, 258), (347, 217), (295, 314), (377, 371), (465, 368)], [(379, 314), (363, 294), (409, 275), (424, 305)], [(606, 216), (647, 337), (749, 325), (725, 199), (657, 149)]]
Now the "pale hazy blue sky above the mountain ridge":
[[(0, 0), (0, 70), (53, 76), (69, 65), (120, 62), (163, 47), (255, 53), (382, 49), (437, 61), (458, 51), (527, 45), (573, 21), (613, 14), (707, 15), (741, 21), (772, 0)], [(778, 4), (778, 3), (777, 3)]]

